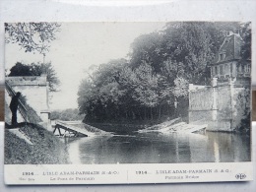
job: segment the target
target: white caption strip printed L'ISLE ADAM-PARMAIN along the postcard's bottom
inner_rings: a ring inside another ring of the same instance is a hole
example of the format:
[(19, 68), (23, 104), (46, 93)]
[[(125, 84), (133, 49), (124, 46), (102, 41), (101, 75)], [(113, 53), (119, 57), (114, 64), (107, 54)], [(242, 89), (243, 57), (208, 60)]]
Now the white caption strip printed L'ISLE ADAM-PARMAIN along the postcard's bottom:
[(5, 164), (5, 183), (129, 184), (250, 181), (251, 162)]

